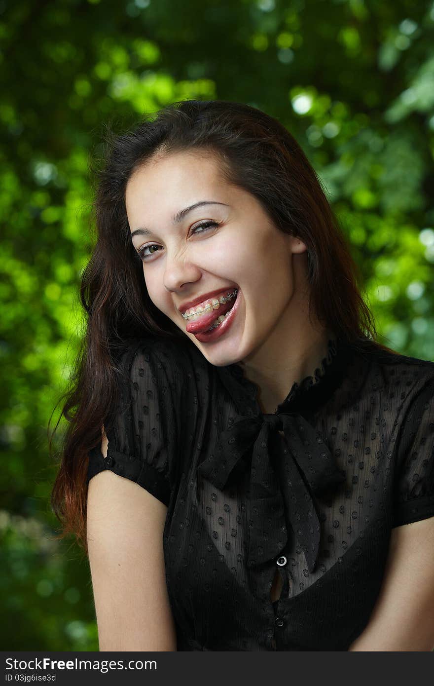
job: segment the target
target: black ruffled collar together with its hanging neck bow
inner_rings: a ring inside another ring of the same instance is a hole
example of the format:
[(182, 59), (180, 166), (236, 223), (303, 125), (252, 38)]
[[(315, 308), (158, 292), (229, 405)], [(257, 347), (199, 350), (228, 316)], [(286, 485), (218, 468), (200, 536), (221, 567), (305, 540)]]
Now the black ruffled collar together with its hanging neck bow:
[(293, 383), (274, 414), (261, 412), (258, 387), (245, 379), (239, 364), (218, 368), (237, 414), (197, 473), (224, 490), (250, 472), (248, 567), (280, 555), (292, 530), (309, 571), (315, 569), (321, 536), (315, 499), (339, 488), (346, 477), (309, 414), (338, 388), (350, 353), (343, 340), (329, 340), (314, 376)]

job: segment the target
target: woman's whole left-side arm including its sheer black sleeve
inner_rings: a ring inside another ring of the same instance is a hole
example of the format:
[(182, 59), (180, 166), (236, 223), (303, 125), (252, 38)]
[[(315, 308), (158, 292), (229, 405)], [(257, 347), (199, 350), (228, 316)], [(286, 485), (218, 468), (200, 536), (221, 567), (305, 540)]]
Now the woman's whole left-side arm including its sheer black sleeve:
[(100, 650), (176, 650), (163, 551), (182, 457), (176, 350), (145, 340), (127, 348), (101, 449), (88, 452), (88, 556)]

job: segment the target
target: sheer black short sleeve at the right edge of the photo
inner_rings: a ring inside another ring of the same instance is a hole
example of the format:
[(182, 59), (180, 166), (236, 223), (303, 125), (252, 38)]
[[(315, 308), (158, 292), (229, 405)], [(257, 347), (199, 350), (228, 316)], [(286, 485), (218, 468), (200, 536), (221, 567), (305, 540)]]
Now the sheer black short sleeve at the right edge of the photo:
[(434, 374), (415, 394), (398, 445), (393, 526), (434, 516)]

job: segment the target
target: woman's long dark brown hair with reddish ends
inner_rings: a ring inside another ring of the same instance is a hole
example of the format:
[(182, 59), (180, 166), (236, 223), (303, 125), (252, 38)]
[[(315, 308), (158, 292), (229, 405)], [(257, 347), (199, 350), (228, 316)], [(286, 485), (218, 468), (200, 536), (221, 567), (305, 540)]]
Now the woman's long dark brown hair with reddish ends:
[(87, 453), (101, 442), (101, 426), (114, 412), (117, 363), (125, 342), (149, 333), (185, 338), (147, 294), (130, 239), (125, 188), (134, 170), (155, 154), (183, 150), (216, 155), (225, 180), (251, 193), (280, 230), (306, 244), (309, 315), (355, 345), (376, 340), (374, 319), (361, 296), (361, 276), (322, 186), (298, 143), (276, 119), (235, 102), (185, 100), (114, 138), (98, 177), (97, 241), (80, 287), (86, 333), (71, 388), (62, 397), (60, 418), (68, 425), (51, 494), (62, 524), (59, 537), (73, 533), (86, 550)]

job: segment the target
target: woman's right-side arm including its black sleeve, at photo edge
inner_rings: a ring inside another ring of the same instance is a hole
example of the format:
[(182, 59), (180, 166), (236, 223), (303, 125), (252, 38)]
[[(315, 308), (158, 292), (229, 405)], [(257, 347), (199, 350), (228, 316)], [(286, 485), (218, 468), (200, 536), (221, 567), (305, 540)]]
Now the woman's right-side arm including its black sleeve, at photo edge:
[(393, 528), (381, 591), (350, 650), (434, 648), (434, 375), (422, 378), (396, 440)]

